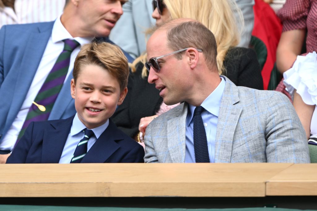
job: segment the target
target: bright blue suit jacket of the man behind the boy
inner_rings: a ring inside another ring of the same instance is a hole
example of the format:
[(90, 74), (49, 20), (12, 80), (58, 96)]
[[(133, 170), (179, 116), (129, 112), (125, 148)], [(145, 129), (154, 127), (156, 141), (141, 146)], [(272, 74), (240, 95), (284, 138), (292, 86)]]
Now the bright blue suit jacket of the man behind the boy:
[[(5, 25), (0, 30), (0, 142), (20, 111), (53, 25), (54, 22)], [(112, 43), (108, 38), (98, 40)], [(129, 62), (133, 61), (129, 54), (125, 55)], [(76, 113), (70, 95), (72, 78), (70, 74), (62, 86), (49, 120), (65, 119)]]

